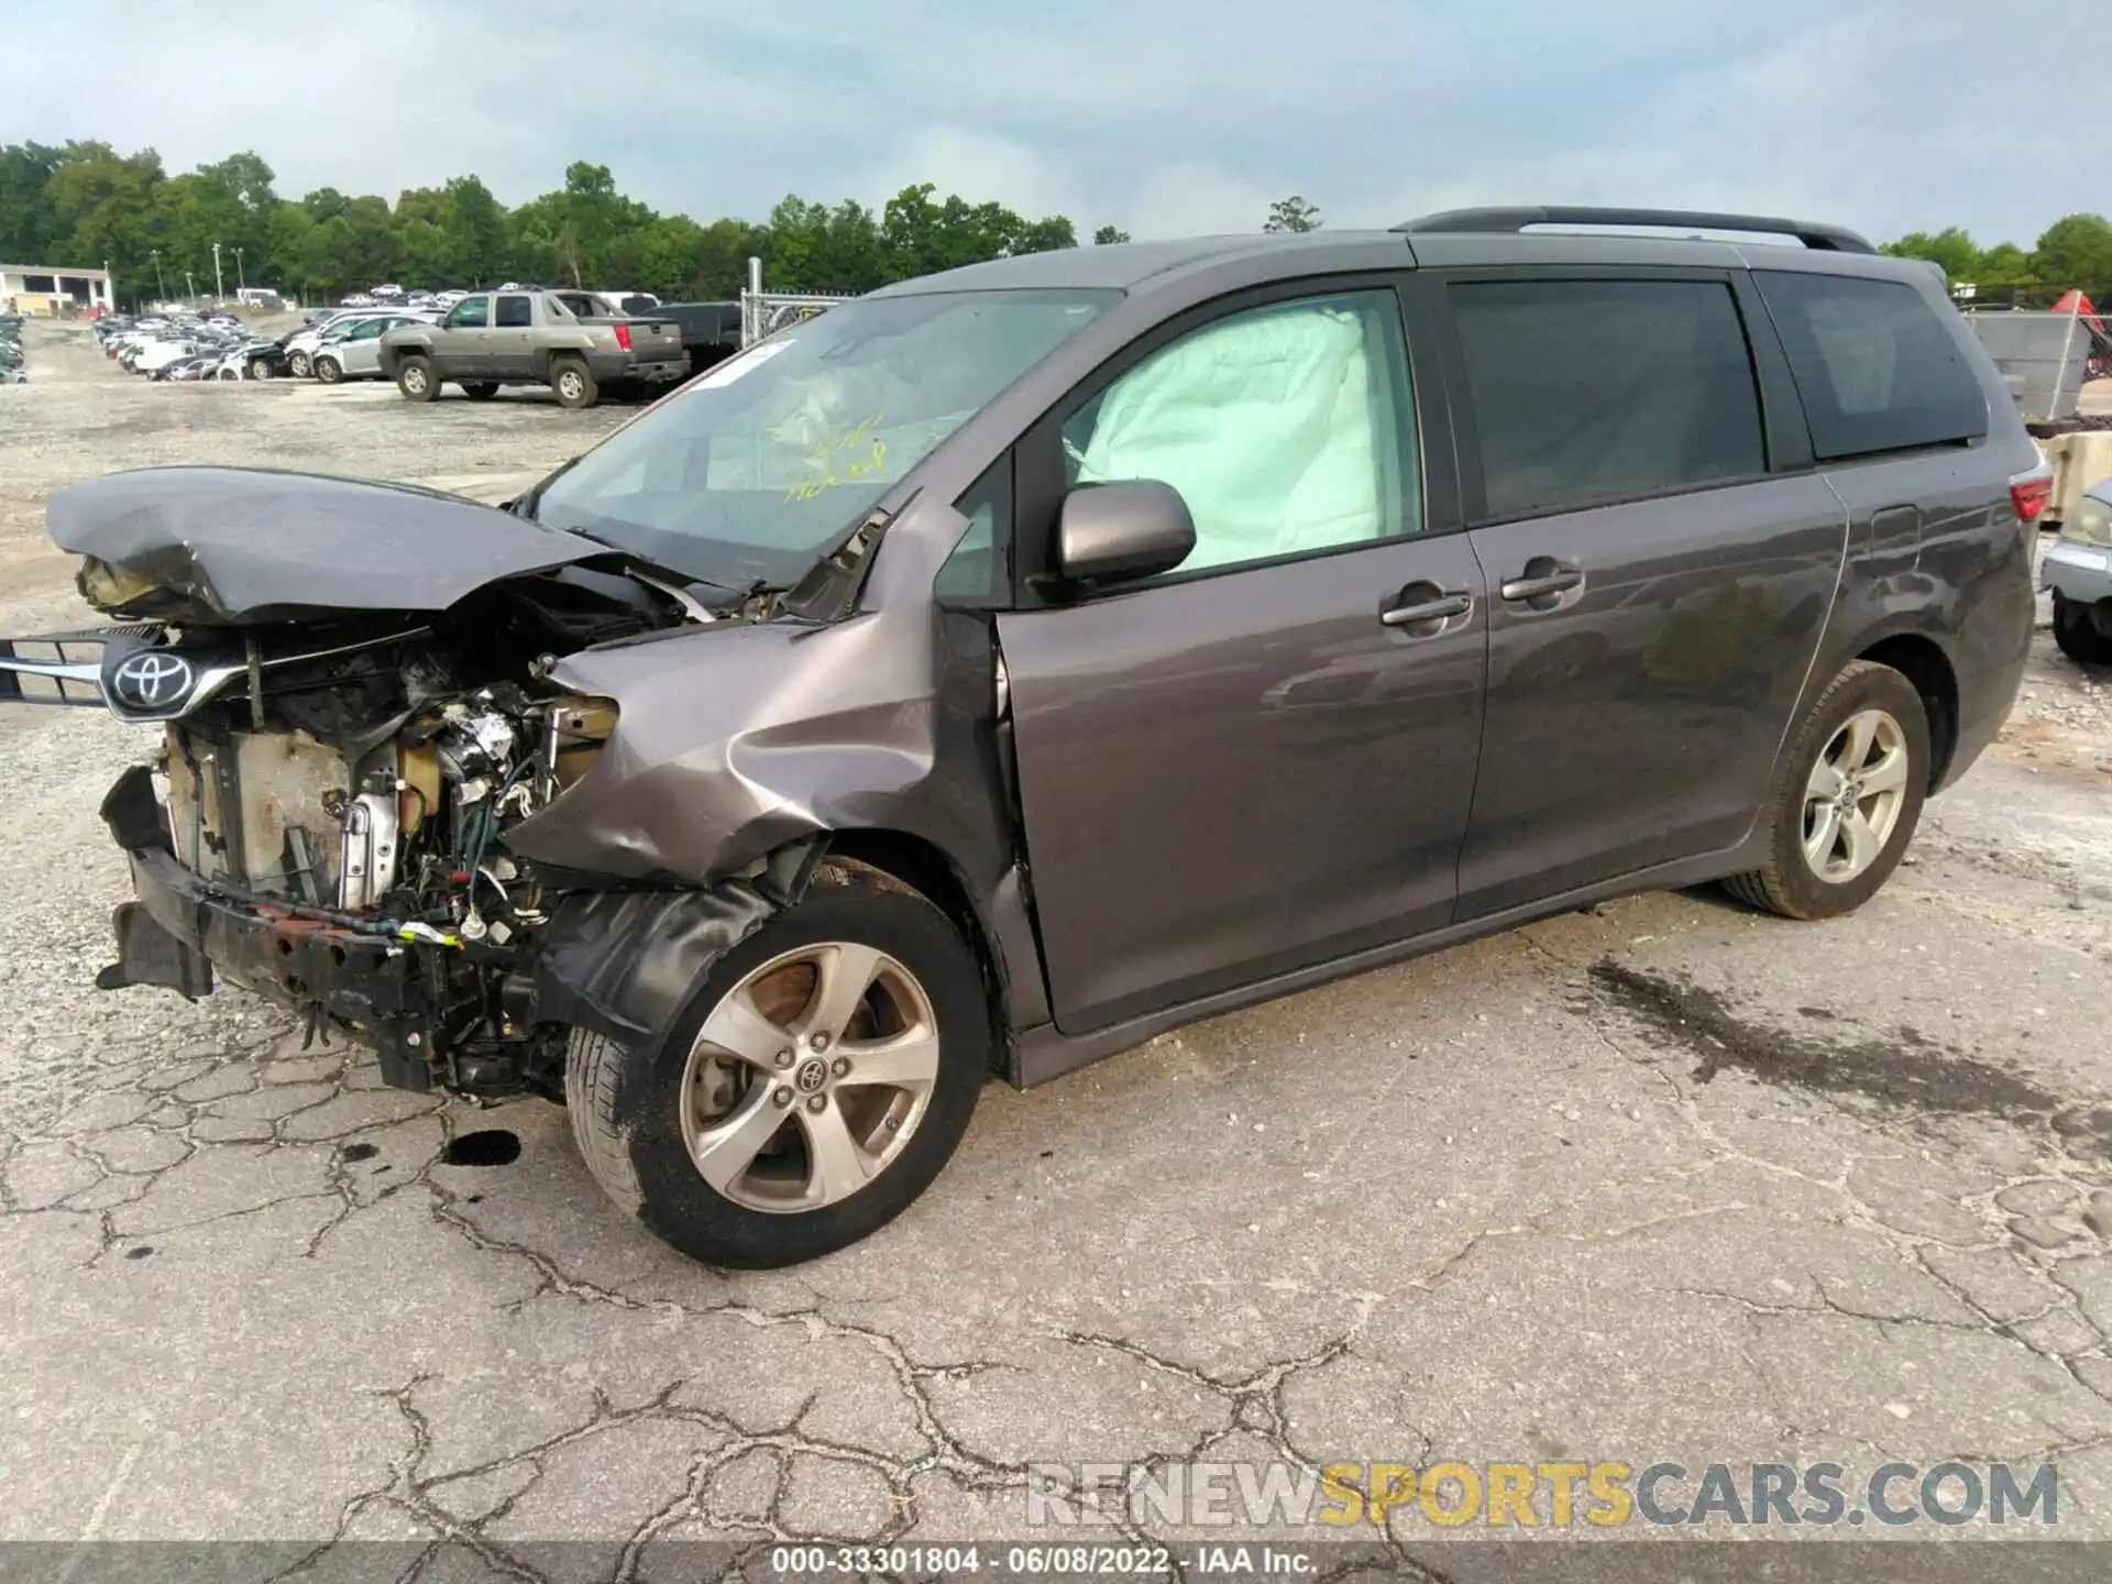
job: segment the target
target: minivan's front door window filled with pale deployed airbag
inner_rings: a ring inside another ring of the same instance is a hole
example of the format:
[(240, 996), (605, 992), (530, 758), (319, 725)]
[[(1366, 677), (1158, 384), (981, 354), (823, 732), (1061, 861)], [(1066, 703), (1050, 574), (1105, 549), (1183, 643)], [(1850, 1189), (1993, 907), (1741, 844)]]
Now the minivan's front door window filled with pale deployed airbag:
[(1181, 572), (1421, 530), (1392, 291), (1271, 302), (1153, 351), (1062, 427), (1071, 484), (1159, 479), (1195, 517)]

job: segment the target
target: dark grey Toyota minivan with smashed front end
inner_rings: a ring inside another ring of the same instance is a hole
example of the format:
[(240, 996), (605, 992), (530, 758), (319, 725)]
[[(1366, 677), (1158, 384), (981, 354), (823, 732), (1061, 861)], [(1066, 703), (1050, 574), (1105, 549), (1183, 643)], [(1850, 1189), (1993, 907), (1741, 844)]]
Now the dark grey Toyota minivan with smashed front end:
[(503, 509), (61, 490), (112, 625), (0, 695), (152, 743), (103, 988), (547, 1096), (779, 1265), (993, 1075), (1626, 891), (1859, 906), (2009, 712), (2044, 498), (1941, 283), (1831, 226), (1086, 247), (834, 306)]

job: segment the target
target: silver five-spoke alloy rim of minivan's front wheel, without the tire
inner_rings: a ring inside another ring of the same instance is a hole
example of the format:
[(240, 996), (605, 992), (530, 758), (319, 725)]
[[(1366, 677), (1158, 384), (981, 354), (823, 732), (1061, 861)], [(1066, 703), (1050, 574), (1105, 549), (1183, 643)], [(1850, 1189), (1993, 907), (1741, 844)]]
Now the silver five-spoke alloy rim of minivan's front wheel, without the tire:
[(819, 1210), (885, 1172), (938, 1083), (931, 997), (855, 942), (773, 957), (697, 1031), (682, 1138), (697, 1172), (750, 1210)]

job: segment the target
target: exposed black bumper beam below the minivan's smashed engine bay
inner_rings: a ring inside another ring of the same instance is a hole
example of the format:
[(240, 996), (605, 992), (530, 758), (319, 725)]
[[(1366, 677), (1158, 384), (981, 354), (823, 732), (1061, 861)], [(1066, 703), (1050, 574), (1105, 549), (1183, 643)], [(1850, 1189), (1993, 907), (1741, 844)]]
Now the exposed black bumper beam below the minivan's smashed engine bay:
[(97, 988), (161, 984), (196, 999), (218, 972), (313, 1022), (359, 1031), (391, 1088), (433, 1088), (446, 1007), (467, 967), (460, 948), (355, 929), (184, 868), (146, 767), (118, 777), (101, 813), (131, 864), (135, 900), (116, 910), (118, 961)]

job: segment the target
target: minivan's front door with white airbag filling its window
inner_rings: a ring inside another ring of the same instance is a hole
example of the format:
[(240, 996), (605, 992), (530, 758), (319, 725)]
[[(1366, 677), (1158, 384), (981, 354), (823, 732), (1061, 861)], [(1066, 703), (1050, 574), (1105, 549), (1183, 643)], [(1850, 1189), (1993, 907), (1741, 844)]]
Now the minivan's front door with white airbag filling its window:
[[(1451, 919), (1487, 631), (1421, 386), (1390, 279), (1303, 283), (1162, 325), (1020, 441), (997, 629), (1067, 1033)], [(1039, 600), (1064, 490), (1130, 477), (1181, 490), (1189, 562)]]

